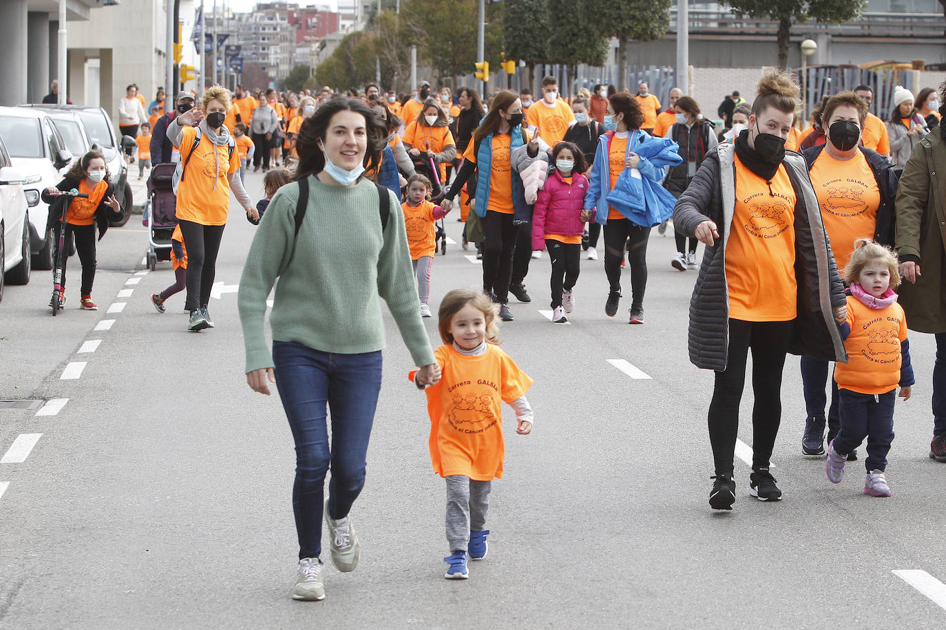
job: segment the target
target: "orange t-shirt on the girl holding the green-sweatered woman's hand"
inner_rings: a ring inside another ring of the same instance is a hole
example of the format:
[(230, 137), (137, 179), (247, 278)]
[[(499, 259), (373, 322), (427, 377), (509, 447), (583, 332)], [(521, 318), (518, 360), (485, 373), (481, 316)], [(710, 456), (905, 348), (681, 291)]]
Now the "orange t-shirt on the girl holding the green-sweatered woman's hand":
[(466, 356), (453, 346), (434, 350), (443, 376), (427, 388), (430, 462), (442, 477), (476, 481), (502, 477), (502, 402), (525, 395), (533, 381), (498, 346)]

